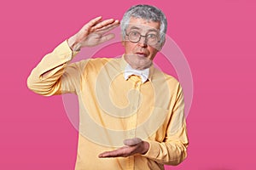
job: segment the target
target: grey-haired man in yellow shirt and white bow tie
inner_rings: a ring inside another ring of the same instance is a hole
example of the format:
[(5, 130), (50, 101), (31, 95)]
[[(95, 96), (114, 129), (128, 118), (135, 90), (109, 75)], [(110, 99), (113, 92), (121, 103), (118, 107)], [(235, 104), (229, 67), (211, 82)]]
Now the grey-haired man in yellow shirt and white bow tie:
[(113, 38), (119, 20), (90, 20), (33, 69), (28, 88), (37, 94), (79, 98), (76, 169), (164, 169), (187, 156), (183, 91), (154, 68), (165, 43), (166, 16), (149, 5), (131, 7), (121, 20), (125, 54), (70, 64), (81, 48)]

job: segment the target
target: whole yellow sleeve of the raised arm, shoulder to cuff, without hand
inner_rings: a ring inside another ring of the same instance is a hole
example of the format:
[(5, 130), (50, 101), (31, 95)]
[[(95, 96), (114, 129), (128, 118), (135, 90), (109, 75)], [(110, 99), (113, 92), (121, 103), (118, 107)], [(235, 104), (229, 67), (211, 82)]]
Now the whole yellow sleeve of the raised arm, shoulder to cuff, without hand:
[(69, 62), (78, 52), (73, 52), (62, 42), (53, 52), (46, 54), (27, 78), (27, 87), (36, 94), (45, 96), (76, 93), (79, 87), (79, 75), (84, 62)]

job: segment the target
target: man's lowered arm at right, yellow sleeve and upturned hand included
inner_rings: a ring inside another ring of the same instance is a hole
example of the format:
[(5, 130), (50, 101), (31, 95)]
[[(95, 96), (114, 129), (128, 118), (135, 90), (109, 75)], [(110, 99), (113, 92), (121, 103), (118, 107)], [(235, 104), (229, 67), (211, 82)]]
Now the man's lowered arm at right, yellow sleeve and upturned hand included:
[(181, 163), (187, 156), (187, 146), (189, 144), (183, 110), (183, 91), (178, 86), (172, 117), (167, 126), (166, 139), (163, 142), (143, 141), (137, 138), (126, 139), (124, 141), (125, 146), (118, 150), (103, 152), (99, 157), (126, 157), (141, 154), (162, 164), (177, 165)]

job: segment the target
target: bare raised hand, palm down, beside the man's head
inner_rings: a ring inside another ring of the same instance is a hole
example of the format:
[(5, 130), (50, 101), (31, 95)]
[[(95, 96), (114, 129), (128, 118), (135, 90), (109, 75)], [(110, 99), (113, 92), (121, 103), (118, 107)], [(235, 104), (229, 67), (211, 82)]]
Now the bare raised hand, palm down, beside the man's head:
[(106, 33), (117, 26), (119, 26), (119, 20), (102, 20), (101, 16), (97, 17), (85, 24), (78, 33), (67, 40), (67, 43), (73, 51), (79, 51), (80, 48), (84, 47), (96, 46), (112, 39), (114, 34)]

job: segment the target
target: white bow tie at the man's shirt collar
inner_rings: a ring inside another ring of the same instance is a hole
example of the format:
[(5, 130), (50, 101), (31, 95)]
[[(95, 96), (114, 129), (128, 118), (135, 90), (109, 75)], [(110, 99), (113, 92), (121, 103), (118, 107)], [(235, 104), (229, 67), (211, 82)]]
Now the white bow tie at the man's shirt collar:
[(124, 74), (125, 80), (127, 80), (129, 77), (131, 77), (131, 75), (137, 75), (137, 76), (141, 77), (142, 82), (146, 82), (148, 80), (148, 76), (149, 76), (149, 68), (142, 70), (142, 71), (138, 71), (138, 70), (131, 68), (131, 65), (126, 65), (125, 74)]

